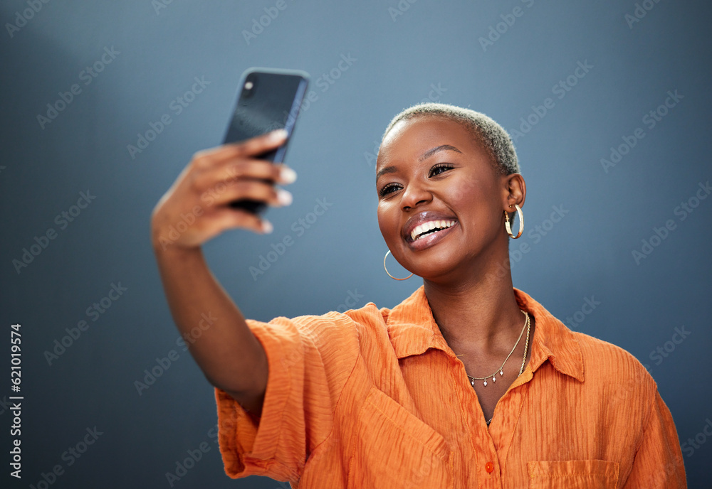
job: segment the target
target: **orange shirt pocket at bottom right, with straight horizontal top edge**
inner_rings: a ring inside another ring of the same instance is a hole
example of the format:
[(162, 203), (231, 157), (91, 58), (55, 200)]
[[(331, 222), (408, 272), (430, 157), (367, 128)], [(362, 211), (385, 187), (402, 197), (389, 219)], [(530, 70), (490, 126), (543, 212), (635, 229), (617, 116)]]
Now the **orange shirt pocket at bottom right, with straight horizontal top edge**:
[(607, 460), (530, 461), (530, 489), (612, 489), (618, 485), (618, 462)]

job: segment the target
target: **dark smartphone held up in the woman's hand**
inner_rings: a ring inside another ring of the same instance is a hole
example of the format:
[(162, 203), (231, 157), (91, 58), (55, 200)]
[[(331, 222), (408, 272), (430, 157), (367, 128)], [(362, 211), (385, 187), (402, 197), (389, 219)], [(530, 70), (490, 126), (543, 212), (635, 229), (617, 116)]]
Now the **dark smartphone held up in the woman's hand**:
[[(258, 158), (281, 163), (294, 131), (302, 100), (309, 84), (309, 75), (301, 70), (249, 68), (242, 74), (238, 98), (223, 144), (250, 139), (276, 129), (285, 129), (287, 139), (277, 149)], [(230, 203), (232, 208), (263, 213), (266, 203), (242, 199)]]

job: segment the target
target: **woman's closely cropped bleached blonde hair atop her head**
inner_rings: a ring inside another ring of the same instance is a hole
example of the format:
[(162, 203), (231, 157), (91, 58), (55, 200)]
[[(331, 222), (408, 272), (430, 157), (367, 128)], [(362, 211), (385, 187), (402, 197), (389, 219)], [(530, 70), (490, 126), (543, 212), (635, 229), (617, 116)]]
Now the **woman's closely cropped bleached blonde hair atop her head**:
[(388, 124), (381, 142), (398, 122), (424, 116), (443, 117), (461, 124), (486, 149), (498, 173), (520, 173), (517, 152), (508, 132), (491, 117), (456, 105), (427, 102), (404, 109)]

